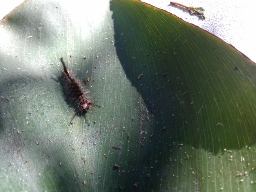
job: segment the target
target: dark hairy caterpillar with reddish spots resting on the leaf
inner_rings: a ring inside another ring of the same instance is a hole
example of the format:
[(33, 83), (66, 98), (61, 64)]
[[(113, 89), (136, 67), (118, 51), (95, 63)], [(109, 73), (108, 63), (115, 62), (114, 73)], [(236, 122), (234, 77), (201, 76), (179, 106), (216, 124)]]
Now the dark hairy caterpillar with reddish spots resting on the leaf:
[(88, 91), (84, 91), (79, 81), (75, 80), (73, 76), (71, 76), (70, 72), (67, 70), (63, 58), (60, 58), (60, 61), (64, 67), (64, 71), (62, 72), (61, 83), (64, 88), (65, 94), (73, 103), (74, 107), (76, 107), (78, 112), (86, 113), (90, 107), (94, 106), (94, 103), (88, 100)]

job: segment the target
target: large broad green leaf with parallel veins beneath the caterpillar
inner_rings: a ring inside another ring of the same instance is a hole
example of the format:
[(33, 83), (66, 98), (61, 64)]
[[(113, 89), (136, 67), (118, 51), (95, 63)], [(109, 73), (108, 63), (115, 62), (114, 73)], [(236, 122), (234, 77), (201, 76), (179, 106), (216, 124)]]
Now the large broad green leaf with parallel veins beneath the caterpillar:
[[(1, 26), (1, 191), (256, 190), (256, 65), (234, 47), (135, 0), (26, 1)], [(101, 107), (76, 114), (62, 56)]]

